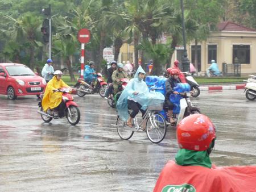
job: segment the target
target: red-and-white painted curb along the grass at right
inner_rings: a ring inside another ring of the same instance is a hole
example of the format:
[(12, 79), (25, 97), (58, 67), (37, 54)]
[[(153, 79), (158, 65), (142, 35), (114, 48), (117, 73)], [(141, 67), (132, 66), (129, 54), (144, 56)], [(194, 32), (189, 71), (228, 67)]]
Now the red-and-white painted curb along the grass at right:
[(222, 84), (222, 85), (200, 85), (201, 91), (212, 91), (212, 90), (237, 90), (237, 89), (245, 89), (245, 83), (241, 84)]

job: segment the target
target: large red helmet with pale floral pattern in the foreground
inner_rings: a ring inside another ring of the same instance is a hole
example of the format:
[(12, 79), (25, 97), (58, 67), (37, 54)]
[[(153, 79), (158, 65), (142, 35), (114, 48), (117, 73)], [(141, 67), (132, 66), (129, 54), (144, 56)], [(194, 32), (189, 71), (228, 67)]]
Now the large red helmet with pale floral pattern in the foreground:
[(216, 138), (212, 121), (203, 114), (189, 115), (177, 126), (177, 142), (181, 149), (206, 151)]

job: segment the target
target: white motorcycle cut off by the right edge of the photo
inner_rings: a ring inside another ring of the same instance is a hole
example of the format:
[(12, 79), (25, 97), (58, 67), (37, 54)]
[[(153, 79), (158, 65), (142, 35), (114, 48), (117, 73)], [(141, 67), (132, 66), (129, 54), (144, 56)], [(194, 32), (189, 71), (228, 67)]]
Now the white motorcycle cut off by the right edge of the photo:
[(250, 101), (254, 101), (254, 99), (256, 99), (256, 76), (250, 75), (251, 77), (248, 78), (247, 80), (243, 80), (246, 83), (245, 85), (245, 91), (243, 91), (243, 93), (245, 93), (245, 97), (250, 100)]

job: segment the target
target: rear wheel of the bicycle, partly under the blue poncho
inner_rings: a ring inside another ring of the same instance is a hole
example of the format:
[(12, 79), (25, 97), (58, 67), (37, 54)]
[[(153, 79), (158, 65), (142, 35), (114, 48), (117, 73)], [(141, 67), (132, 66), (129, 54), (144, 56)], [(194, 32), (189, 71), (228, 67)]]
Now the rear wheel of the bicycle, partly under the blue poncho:
[(119, 115), (117, 117), (117, 132), (118, 135), (124, 140), (130, 139), (134, 133), (133, 128), (127, 126), (126, 121), (119, 118)]

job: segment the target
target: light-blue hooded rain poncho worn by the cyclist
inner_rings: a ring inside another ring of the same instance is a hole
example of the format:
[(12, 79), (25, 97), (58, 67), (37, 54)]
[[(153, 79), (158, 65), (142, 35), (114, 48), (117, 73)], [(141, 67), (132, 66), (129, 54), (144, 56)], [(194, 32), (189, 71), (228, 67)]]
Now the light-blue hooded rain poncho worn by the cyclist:
[[(134, 78), (129, 81), (117, 101), (117, 112), (122, 120), (129, 118), (127, 106), (128, 97), (138, 102), (142, 106), (142, 110), (146, 110), (147, 106), (164, 102), (164, 95), (159, 92), (150, 91), (146, 82), (139, 78), (139, 73), (145, 73), (141, 66), (139, 66)], [(134, 95), (134, 91), (137, 91), (138, 94)]]

